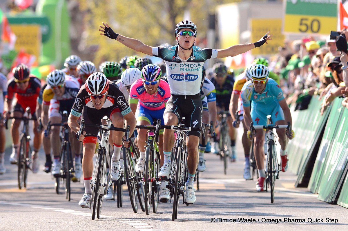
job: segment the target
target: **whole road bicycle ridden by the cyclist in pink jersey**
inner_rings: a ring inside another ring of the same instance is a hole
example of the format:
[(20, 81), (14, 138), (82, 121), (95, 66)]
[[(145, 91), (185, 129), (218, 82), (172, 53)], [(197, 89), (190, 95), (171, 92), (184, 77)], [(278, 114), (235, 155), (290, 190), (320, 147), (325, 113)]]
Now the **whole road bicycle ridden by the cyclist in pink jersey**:
[(143, 193), (144, 193), (144, 205), (145, 213), (150, 214), (152, 205), (152, 212), (157, 212), (157, 206), (159, 201), (159, 189), (160, 179), (158, 177), (160, 168), (160, 155), (158, 151), (158, 136), (159, 127), (161, 126), (161, 120), (158, 119), (154, 122), (154, 125), (137, 125), (135, 128), (147, 129), (147, 138), (145, 140), (145, 166), (143, 173)]

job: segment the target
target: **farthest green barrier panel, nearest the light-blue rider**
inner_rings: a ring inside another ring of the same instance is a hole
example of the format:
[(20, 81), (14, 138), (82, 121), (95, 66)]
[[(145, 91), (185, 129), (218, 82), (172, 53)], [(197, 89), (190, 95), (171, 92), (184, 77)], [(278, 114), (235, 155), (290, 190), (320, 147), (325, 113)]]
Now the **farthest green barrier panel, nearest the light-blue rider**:
[(331, 106), (329, 106), (324, 114), (320, 115), (320, 108), (321, 101), (315, 95), (312, 97), (307, 110), (299, 111), (297, 114), (292, 112), (293, 130), (296, 135), (289, 142), (287, 153), (289, 156), (289, 169), (296, 175), (299, 174), (307, 156), (313, 150), (331, 110)]

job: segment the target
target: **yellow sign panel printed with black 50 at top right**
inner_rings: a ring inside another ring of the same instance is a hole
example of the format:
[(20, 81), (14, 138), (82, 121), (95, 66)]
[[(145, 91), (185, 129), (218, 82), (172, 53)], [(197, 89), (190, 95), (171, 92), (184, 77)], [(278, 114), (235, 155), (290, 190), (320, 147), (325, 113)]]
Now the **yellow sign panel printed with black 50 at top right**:
[(337, 30), (337, 17), (285, 15), (284, 32), (330, 34)]

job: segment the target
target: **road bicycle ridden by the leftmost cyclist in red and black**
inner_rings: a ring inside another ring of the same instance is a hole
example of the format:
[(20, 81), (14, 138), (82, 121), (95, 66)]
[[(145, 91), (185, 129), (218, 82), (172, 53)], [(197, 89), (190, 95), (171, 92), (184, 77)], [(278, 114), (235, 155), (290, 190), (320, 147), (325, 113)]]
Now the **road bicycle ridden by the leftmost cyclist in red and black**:
[[(32, 170), (30, 167), (31, 164), (31, 153), (32, 149), (30, 146), (30, 134), (29, 134), (29, 121), (30, 120), (36, 120), (34, 118), (31, 118), (31, 111), (30, 108), (27, 107), (25, 109), (25, 112), (23, 114), (23, 117), (9, 117), (8, 119), (17, 119), (23, 121), (23, 130), (21, 131), (21, 135), (19, 137), (20, 143), (19, 143), (19, 155), (17, 160), (18, 165), (18, 188), (22, 189), (23, 187), (26, 188), (26, 180), (28, 175), (28, 169)], [(7, 126), (7, 119), (5, 120), (5, 127), (8, 129)]]

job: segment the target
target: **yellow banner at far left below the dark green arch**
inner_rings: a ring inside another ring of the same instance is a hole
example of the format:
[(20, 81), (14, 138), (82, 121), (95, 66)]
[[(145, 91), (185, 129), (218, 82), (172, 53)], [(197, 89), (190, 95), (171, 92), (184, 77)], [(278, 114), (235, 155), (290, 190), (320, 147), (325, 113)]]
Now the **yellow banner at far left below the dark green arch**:
[(17, 37), (15, 50), (24, 49), (26, 53), (35, 55), (36, 60), (38, 60), (41, 49), (40, 25), (11, 24), (11, 29)]

